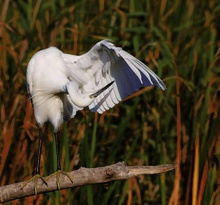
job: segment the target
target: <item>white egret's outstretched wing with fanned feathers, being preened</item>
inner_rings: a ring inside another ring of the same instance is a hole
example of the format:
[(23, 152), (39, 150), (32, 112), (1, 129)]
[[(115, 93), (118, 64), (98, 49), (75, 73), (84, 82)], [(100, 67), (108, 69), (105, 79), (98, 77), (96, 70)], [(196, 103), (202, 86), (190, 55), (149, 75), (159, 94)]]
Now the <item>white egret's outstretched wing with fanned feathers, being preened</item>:
[(114, 81), (106, 91), (89, 105), (91, 111), (102, 113), (144, 86), (157, 85), (164, 90), (163, 81), (145, 64), (122, 48), (103, 40), (81, 56), (63, 54), (69, 79), (80, 92), (93, 92)]

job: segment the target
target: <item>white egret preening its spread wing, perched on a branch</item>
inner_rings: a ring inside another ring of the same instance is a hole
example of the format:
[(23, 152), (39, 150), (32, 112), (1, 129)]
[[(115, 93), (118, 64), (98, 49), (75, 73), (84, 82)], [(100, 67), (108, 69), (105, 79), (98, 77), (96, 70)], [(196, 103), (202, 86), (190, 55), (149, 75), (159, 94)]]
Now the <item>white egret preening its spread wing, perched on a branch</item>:
[[(43, 125), (49, 121), (54, 127), (57, 154), (57, 187), (60, 189), (61, 171), (58, 129), (69, 121), (78, 110), (89, 107), (92, 112), (102, 114), (114, 107), (125, 97), (145, 86), (158, 86), (165, 90), (165, 83), (144, 63), (115, 46), (109, 40), (97, 42), (82, 55), (63, 53), (56, 47), (49, 47), (35, 53), (26, 72), (26, 86), (34, 116), (39, 126), (39, 148), (34, 192), (40, 178), (40, 157), (43, 140)], [(53, 175), (53, 174), (52, 174)]]

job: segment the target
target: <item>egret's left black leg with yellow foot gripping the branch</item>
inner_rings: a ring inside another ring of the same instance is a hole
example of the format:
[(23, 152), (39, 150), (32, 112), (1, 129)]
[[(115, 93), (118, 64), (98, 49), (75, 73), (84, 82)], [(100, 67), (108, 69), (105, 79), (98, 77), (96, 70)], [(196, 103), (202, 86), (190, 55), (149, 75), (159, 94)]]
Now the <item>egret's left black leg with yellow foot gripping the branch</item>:
[(38, 182), (38, 179), (41, 179), (43, 181), (43, 183), (47, 185), (46, 180), (43, 178), (43, 176), (40, 175), (40, 157), (41, 157), (41, 152), (42, 152), (42, 143), (43, 143), (43, 132), (42, 132), (42, 129), (40, 128), (39, 129), (39, 147), (38, 147), (38, 154), (37, 154), (36, 174), (31, 179), (26, 181), (21, 187), (21, 190), (23, 190), (23, 188), (25, 186), (27, 186), (28, 183), (30, 183), (31, 181), (34, 181), (34, 193), (35, 193), (35, 195), (37, 195), (37, 182)]

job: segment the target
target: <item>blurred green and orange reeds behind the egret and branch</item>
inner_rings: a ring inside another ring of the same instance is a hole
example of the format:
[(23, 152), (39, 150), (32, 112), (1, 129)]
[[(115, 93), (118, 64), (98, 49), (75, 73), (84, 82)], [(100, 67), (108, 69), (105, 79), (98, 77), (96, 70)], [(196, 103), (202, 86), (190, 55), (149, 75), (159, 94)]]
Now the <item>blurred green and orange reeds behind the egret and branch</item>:
[[(147, 88), (60, 130), (62, 167), (176, 163), (175, 171), (57, 191), (7, 204), (219, 204), (220, 4), (205, 1), (0, 1), (0, 185), (30, 178), (38, 127), (25, 86), (31, 56), (48, 46), (82, 54), (111, 39), (146, 63), (167, 90)], [(144, 92), (143, 92), (144, 91)], [(55, 171), (45, 126), (41, 172)]]

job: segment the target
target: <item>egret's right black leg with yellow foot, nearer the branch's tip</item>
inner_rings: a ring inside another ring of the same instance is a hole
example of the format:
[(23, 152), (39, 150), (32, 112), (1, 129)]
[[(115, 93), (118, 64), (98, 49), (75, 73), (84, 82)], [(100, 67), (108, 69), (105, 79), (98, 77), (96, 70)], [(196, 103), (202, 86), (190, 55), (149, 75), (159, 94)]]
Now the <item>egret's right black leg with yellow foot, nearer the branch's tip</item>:
[(73, 183), (73, 180), (71, 179), (71, 177), (69, 176), (69, 174), (67, 174), (66, 172), (61, 170), (61, 166), (60, 166), (60, 138), (57, 135), (57, 132), (54, 132), (54, 137), (55, 137), (55, 143), (56, 143), (56, 154), (57, 154), (57, 171), (54, 172), (53, 174), (51, 174), (47, 179), (49, 180), (52, 176), (56, 175), (56, 183), (57, 183), (57, 188), (60, 189), (60, 175), (66, 175), (69, 180)]

